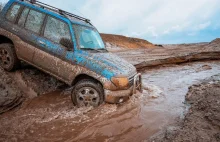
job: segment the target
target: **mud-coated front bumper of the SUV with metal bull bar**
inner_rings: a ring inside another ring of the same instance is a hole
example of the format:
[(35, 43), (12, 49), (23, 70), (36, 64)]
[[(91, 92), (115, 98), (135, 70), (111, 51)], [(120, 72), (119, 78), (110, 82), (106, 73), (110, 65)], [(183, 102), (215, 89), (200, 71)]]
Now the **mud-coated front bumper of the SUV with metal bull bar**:
[(123, 103), (127, 101), (130, 96), (136, 94), (136, 90), (142, 92), (142, 77), (140, 73), (134, 76), (133, 86), (127, 90), (105, 90), (105, 102), (112, 104)]

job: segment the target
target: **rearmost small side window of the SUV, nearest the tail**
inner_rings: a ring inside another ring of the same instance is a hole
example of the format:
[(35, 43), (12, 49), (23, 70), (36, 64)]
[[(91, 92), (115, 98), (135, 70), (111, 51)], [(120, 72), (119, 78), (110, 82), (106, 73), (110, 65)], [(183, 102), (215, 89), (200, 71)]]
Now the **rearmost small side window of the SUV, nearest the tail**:
[(20, 8), (21, 6), (19, 4), (13, 4), (6, 14), (6, 19), (8, 19), (11, 22), (14, 22)]

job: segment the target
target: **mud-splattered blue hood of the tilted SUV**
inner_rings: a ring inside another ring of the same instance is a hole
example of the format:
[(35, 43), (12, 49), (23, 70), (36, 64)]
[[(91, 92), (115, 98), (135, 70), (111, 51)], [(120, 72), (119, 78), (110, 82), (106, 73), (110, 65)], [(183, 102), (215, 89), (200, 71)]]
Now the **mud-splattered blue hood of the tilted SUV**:
[(137, 73), (136, 68), (112, 53), (81, 52), (78, 56), (78, 64), (111, 79), (113, 76), (130, 77)]

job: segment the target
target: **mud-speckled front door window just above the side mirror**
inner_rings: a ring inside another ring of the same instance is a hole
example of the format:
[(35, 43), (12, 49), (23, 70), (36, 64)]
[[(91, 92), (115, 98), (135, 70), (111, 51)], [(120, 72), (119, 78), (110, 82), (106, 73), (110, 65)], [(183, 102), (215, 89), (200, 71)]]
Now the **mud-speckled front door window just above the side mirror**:
[(71, 40), (68, 24), (50, 16), (47, 18), (44, 36), (56, 43), (62, 38)]

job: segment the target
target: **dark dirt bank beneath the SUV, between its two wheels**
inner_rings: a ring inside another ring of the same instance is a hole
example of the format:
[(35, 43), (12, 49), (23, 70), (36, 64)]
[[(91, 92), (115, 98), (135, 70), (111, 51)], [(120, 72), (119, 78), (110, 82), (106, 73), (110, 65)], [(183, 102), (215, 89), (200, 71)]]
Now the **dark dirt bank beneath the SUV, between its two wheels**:
[(24, 100), (66, 88), (66, 85), (33, 67), (8, 73), (0, 68), (0, 114), (20, 105)]

